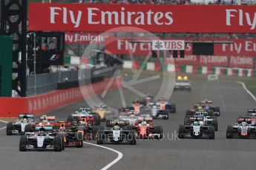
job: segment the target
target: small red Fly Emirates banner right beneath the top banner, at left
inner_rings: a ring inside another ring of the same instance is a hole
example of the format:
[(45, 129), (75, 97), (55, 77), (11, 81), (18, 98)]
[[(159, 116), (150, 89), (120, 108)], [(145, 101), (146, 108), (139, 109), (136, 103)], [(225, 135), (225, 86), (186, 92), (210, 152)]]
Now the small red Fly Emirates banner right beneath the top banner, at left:
[(99, 33), (65, 33), (66, 44), (102, 44), (109, 35)]

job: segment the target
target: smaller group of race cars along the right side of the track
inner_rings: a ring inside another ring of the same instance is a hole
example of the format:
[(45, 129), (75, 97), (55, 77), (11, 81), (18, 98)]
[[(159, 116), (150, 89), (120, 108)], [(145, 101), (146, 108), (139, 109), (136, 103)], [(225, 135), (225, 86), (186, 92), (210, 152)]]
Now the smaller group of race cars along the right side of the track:
[[(213, 106), (211, 101), (205, 100), (188, 109), (184, 125), (180, 125), (178, 137), (214, 139), (214, 132), (218, 130), (217, 117), (220, 107)], [(226, 138), (256, 138), (256, 109), (248, 109), (247, 115), (237, 118), (234, 125), (228, 125)]]

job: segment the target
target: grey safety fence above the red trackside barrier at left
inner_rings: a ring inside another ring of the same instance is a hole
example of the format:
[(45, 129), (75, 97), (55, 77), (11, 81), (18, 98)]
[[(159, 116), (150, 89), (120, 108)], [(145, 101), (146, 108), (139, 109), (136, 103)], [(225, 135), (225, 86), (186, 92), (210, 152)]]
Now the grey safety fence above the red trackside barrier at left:
[[(42, 95), (56, 89), (68, 89), (79, 86), (79, 81), (96, 83), (104, 78), (116, 76), (122, 66), (52, 72), (42, 75), (27, 75), (27, 96)], [(101, 71), (104, 70), (104, 71)]]

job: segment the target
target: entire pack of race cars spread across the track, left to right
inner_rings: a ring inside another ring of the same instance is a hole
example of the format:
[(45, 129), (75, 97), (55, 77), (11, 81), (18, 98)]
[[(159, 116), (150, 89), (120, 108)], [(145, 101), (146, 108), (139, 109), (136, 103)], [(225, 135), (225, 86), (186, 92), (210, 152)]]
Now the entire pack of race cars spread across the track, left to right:
[[(83, 147), (84, 140), (103, 143), (128, 143), (136, 145), (137, 139), (162, 139), (163, 127), (154, 119), (168, 120), (176, 112), (174, 103), (167, 100), (153, 101), (148, 95), (135, 99), (131, 106), (120, 108), (114, 115), (105, 104), (95, 109), (80, 107), (67, 120), (56, 121), (55, 116), (41, 115), (39, 122), (33, 115), (19, 115), (16, 122), (7, 123), (7, 135), (22, 135), (19, 150), (54, 150), (61, 152), (67, 146)], [(179, 126), (178, 137), (214, 139), (218, 130), (217, 117), (220, 107), (212, 101), (200, 101), (186, 111), (184, 124)], [(105, 128), (102, 126), (105, 122)], [(256, 138), (256, 109), (237, 118), (237, 123), (227, 126), (227, 138)]]

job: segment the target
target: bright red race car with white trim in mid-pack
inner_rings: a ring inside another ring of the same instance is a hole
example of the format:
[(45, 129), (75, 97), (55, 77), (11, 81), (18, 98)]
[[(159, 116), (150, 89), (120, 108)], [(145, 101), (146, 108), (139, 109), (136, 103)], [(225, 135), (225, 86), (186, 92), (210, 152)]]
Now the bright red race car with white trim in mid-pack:
[(131, 129), (136, 130), (137, 138), (151, 138), (151, 139), (162, 139), (163, 138), (163, 127), (154, 126), (148, 124), (145, 120), (136, 126), (131, 126)]

